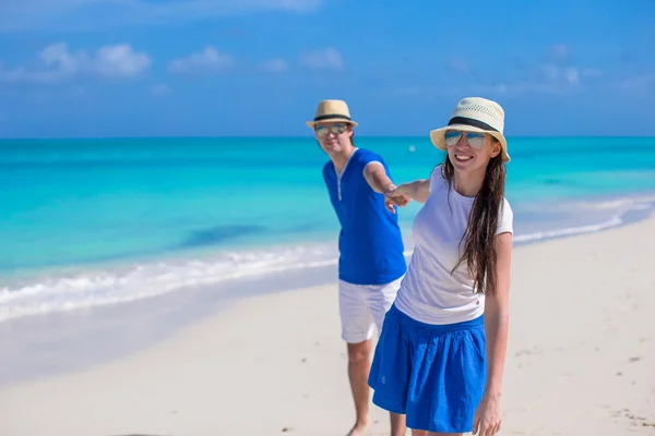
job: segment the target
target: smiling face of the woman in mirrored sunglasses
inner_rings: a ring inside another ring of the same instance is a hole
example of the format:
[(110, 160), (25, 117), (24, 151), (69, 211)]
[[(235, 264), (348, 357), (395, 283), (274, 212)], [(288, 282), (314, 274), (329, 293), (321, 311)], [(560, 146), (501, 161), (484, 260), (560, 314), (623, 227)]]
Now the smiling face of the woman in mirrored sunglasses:
[(448, 156), (457, 172), (484, 170), (501, 152), (500, 143), (487, 133), (449, 130), (444, 138)]

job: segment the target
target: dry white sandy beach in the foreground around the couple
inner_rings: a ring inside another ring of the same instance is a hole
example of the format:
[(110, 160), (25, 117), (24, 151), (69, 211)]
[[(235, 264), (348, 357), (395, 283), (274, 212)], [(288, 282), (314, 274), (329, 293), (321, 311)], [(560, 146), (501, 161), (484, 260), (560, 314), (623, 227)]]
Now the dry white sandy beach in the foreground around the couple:
[[(655, 435), (654, 240), (651, 218), (515, 250), (500, 434)], [(353, 420), (335, 286), (0, 391), (2, 436), (343, 435)]]

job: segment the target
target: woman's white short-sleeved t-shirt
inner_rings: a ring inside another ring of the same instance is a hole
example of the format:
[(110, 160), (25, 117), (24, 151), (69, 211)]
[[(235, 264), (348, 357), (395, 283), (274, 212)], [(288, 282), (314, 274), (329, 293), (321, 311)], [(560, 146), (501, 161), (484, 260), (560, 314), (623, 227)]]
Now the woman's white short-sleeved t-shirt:
[[(430, 195), (414, 219), (414, 254), (395, 300), (401, 312), (427, 324), (462, 323), (485, 311), (485, 296), (474, 292), (466, 262), (451, 275), (464, 250), (460, 241), (475, 198), (449, 190), (441, 170), (432, 171)], [(513, 232), (512, 208), (507, 198), (503, 204), (497, 234)]]

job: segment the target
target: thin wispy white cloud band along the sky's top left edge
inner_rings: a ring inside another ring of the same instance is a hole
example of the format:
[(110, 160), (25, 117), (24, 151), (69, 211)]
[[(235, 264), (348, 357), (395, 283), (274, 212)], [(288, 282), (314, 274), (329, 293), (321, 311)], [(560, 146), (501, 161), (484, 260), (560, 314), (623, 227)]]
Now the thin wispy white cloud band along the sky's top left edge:
[[(200, 21), (263, 11), (307, 13), (324, 0), (1, 0), (0, 32)], [(7, 4), (4, 4), (7, 3)], [(96, 17), (102, 17), (97, 20)]]

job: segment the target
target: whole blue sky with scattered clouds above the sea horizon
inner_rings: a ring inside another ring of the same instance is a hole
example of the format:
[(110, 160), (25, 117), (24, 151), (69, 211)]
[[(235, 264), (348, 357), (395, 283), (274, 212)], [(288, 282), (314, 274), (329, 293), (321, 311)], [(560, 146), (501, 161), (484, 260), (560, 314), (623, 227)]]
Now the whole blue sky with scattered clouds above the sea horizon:
[[(56, 4), (56, 5), (53, 5)], [(464, 96), (508, 135), (655, 135), (655, 1), (3, 0), (0, 136), (426, 135)]]

